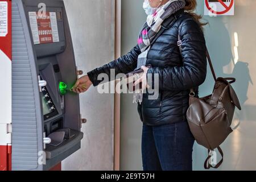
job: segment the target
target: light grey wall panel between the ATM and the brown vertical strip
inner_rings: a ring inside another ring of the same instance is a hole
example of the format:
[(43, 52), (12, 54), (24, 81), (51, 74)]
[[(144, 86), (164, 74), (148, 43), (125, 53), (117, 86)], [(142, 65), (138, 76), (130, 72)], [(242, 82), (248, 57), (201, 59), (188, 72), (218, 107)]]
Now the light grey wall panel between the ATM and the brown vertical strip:
[[(114, 59), (114, 1), (64, 0), (76, 64), (88, 71)], [(84, 139), (81, 150), (63, 162), (63, 170), (112, 170), (114, 95), (96, 88), (80, 95)]]

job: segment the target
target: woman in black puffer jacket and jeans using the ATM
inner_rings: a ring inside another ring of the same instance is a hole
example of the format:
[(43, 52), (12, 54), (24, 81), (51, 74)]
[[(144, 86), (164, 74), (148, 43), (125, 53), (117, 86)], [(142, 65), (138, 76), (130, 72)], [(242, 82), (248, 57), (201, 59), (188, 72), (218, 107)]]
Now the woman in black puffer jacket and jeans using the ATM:
[[(110, 69), (115, 69), (115, 74), (129, 73), (142, 66), (144, 75), (140, 81), (147, 80), (149, 74), (158, 74), (158, 98), (149, 100), (146, 92), (138, 104), (143, 122), (143, 169), (190, 171), (195, 139), (189, 130), (186, 111), (191, 88), (198, 96), (198, 87), (207, 74), (204, 24), (200, 23), (201, 16), (192, 13), (196, 0), (145, 0), (143, 7), (148, 17), (137, 46), (127, 55), (81, 77), (74, 92), (85, 92), (92, 84), (97, 86), (101, 82), (98, 75), (110, 76)], [(170, 18), (174, 21), (151, 45), (163, 22)], [(152, 67), (144, 67), (146, 64)]]

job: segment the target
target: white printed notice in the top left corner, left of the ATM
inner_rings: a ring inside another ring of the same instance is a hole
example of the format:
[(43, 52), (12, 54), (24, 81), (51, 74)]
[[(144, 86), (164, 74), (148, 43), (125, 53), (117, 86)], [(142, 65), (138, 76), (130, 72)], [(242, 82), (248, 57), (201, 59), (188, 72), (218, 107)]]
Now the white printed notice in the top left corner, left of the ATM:
[(8, 32), (8, 4), (0, 2), (0, 36), (6, 36)]

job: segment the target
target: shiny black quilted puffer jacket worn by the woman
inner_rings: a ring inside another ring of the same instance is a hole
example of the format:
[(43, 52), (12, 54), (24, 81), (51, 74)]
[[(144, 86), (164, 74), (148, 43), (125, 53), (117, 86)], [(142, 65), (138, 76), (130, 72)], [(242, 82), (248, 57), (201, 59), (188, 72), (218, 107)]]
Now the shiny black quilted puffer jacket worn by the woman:
[[(146, 125), (187, 121), (189, 90), (194, 88), (198, 95), (198, 86), (207, 75), (205, 39), (199, 24), (188, 13), (183, 12), (176, 18), (148, 52), (147, 64), (152, 65), (148, 73), (159, 73), (159, 97), (148, 100), (148, 93), (143, 94), (138, 112)], [(181, 52), (177, 46), (178, 35), (182, 41)], [(94, 69), (88, 76), (96, 86), (101, 82), (97, 76), (110, 75), (110, 69), (115, 69), (115, 74), (129, 73), (137, 67), (140, 53), (137, 45), (127, 55)]]

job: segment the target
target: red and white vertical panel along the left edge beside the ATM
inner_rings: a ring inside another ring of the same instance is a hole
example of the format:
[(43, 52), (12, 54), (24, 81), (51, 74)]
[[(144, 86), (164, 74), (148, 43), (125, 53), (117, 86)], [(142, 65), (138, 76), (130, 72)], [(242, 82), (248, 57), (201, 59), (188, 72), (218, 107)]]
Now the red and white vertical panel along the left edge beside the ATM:
[(0, 0), (0, 171), (11, 169), (11, 1)]

